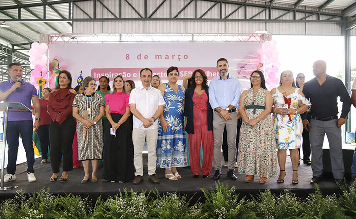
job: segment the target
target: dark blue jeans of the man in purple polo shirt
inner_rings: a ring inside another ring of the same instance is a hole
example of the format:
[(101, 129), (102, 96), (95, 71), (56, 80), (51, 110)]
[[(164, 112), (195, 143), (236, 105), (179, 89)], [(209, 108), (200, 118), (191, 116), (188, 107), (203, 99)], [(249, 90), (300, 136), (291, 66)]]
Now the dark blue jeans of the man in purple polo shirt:
[(32, 120), (8, 121), (6, 141), (9, 147), (7, 173), (15, 174), (17, 150), (19, 149), (19, 134), (21, 134), (22, 144), (24, 145), (27, 160), (27, 172), (34, 173), (34, 150), (32, 146)]

